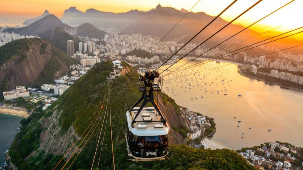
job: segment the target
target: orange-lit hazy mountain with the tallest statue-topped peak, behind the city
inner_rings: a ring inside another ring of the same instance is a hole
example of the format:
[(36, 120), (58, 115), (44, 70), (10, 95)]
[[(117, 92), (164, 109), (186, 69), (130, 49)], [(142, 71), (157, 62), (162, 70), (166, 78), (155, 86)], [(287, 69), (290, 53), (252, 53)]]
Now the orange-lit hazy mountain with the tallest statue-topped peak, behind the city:
[[(138, 20), (125, 28), (126, 32), (140, 33), (143, 35), (151, 35), (163, 37), (168, 30), (170, 30), (182, 17), (184, 12), (178, 11), (175, 8), (161, 7), (158, 5), (155, 10), (146, 13), (140, 13)], [(165, 37), (165, 40), (172, 40), (185, 36), (181, 42), (189, 40), (199, 30), (201, 30), (206, 24), (209, 23), (214, 17), (205, 14), (204, 12), (193, 13), (190, 12), (185, 18)], [(198, 43), (201, 40), (205, 40), (210, 35), (215, 33), (218, 29), (227, 24), (222, 18), (215, 20), (209, 27), (207, 27), (193, 42)], [(222, 38), (235, 34), (243, 27), (238, 25), (229, 25), (215, 37), (210, 39), (205, 45), (207, 47), (214, 46)], [(251, 34), (251, 30), (245, 31), (245, 34)], [(243, 34), (242, 34), (243, 35)]]

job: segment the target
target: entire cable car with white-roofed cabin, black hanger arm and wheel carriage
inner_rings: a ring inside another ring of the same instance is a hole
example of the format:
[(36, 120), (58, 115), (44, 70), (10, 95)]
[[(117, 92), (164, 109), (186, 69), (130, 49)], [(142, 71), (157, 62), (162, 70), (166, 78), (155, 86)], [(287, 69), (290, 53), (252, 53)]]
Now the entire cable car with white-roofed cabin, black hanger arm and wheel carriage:
[[(155, 80), (156, 79), (156, 80)], [(161, 113), (153, 91), (161, 91), (159, 72), (145, 72), (139, 77), (142, 97), (126, 112), (128, 131), (125, 133), (128, 156), (132, 161), (157, 161), (169, 159), (169, 125)], [(154, 83), (156, 82), (156, 83)], [(140, 107), (136, 107), (143, 101)], [(153, 107), (145, 107), (150, 102)]]

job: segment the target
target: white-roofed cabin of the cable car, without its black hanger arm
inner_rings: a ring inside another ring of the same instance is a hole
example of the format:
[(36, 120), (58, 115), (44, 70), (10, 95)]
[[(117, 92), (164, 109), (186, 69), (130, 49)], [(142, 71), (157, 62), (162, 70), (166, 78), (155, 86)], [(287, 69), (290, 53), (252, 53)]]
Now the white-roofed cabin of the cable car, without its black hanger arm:
[(144, 107), (132, 123), (140, 107), (126, 112), (128, 132), (127, 151), (135, 161), (167, 159), (169, 127), (161, 123), (161, 116), (154, 107)]

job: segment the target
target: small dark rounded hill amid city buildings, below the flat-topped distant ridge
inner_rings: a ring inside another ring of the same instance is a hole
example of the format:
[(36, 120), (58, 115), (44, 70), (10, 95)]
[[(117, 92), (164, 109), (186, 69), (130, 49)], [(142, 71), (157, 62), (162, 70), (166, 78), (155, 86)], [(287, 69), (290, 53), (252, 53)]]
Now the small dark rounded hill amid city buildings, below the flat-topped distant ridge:
[(106, 34), (105, 31), (99, 30), (92, 24), (84, 23), (77, 27), (76, 34), (81, 37), (98, 38), (102, 40)]

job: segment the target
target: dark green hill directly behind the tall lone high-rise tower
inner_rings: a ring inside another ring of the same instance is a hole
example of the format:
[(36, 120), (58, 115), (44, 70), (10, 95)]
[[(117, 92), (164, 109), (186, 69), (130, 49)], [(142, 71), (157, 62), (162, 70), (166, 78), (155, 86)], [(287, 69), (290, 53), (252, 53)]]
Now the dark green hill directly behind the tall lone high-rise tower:
[(59, 50), (62, 50), (66, 53), (66, 41), (73, 40), (74, 41), (74, 49), (75, 51), (79, 50), (79, 43), (81, 42), (78, 38), (73, 37), (72, 35), (65, 32), (61, 27), (55, 27), (53, 30), (48, 30), (42, 34), (39, 34), (39, 37), (45, 38), (49, 42), (51, 42), (55, 47)]

